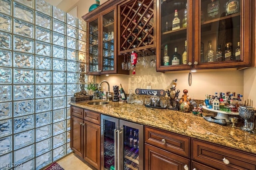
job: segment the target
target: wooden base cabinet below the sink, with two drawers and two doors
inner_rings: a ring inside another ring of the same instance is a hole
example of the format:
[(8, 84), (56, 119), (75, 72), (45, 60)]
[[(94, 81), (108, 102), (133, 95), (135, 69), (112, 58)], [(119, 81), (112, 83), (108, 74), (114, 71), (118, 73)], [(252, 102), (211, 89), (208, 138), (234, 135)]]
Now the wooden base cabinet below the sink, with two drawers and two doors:
[(100, 169), (100, 114), (71, 106), (70, 137), (74, 153)]

